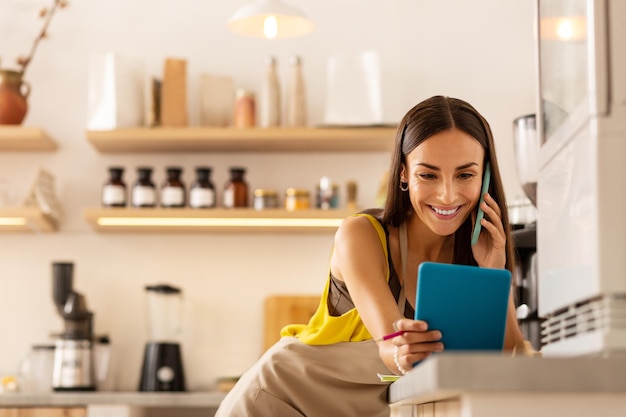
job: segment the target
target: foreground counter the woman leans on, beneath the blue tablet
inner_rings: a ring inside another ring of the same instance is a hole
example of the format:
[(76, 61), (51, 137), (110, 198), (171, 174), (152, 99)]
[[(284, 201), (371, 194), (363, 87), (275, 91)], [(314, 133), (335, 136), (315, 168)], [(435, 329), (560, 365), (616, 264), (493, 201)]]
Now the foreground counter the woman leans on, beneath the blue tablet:
[(394, 417), (621, 417), (626, 357), (434, 355), (390, 386), (389, 403)]

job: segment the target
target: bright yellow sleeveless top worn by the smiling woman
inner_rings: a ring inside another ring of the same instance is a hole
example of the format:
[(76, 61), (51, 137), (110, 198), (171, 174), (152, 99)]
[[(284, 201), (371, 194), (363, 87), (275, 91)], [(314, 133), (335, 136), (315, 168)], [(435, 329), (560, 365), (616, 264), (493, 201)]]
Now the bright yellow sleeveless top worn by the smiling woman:
[[(380, 243), (388, 259), (387, 236), (381, 224), (374, 216), (357, 213), (352, 216), (366, 217), (378, 234)], [(351, 217), (352, 217), (351, 216)], [(387, 282), (389, 282), (389, 265), (387, 265)], [(281, 336), (297, 337), (308, 345), (330, 345), (340, 342), (362, 342), (372, 338), (361, 321), (359, 312), (353, 308), (340, 316), (331, 316), (328, 312), (328, 291), (330, 288), (330, 272), (317, 311), (308, 324), (289, 324), (280, 331)]]

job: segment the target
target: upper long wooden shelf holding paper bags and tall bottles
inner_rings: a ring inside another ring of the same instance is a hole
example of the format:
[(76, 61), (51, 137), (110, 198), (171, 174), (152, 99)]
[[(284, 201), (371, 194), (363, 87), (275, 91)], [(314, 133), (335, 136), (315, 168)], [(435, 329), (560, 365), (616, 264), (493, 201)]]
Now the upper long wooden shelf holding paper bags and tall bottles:
[(129, 128), (87, 131), (102, 153), (117, 152), (348, 152), (389, 151), (395, 127), (362, 128)]

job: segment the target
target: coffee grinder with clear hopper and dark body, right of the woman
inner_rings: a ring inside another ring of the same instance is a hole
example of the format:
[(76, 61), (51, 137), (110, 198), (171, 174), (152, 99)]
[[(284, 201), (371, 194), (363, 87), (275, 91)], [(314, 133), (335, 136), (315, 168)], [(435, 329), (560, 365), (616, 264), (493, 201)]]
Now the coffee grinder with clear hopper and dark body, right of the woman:
[[(532, 205), (537, 207), (539, 138), (534, 114), (520, 116), (513, 121), (513, 141), (517, 175), (522, 189)], [(513, 226), (512, 235), (516, 249), (517, 318), (524, 337), (530, 341), (535, 350), (541, 350), (542, 319), (538, 314), (536, 216), (525, 218)]]

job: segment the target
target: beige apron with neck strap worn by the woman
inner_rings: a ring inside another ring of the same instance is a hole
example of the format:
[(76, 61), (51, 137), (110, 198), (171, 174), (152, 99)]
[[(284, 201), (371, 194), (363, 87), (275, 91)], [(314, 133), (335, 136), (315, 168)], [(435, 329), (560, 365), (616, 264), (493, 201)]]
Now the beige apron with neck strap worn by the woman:
[[(406, 227), (400, 257), (406, 276)], [(404, 312), (404, 285), (398, 307)], [(389, 417), (389, 374), (373, 340), (308, 345), (282, 337), (242, 376), (216, 417)]]

